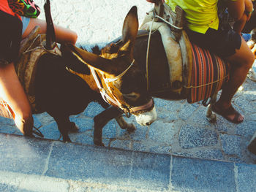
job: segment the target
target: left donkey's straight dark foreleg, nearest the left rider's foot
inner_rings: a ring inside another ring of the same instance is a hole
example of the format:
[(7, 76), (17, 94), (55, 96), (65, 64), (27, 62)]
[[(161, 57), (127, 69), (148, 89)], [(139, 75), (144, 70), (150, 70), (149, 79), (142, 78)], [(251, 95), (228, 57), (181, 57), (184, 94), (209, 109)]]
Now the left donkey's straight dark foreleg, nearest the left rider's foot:
[(71, 139), (69, 138), (69, 130), (71, 129), (71, 122), (69, 120), (68, 116), (58, 116), (53, 117), (58, 125), (59, 132), (61, 133), (63, 137), (63, 142), (71, 142)]

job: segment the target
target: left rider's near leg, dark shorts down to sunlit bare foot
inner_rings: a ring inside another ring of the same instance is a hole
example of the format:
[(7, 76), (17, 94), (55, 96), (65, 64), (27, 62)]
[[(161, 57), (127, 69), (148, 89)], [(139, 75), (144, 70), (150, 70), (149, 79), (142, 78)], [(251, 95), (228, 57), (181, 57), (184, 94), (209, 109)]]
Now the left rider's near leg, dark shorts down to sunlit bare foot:
[(12, 108), (14, 120), (23, 134), (31, 135), (33, 118), (26, 94), (18, 80), (13, 62), (18, 58), (22, 23), (0, 11), (0, 95)]

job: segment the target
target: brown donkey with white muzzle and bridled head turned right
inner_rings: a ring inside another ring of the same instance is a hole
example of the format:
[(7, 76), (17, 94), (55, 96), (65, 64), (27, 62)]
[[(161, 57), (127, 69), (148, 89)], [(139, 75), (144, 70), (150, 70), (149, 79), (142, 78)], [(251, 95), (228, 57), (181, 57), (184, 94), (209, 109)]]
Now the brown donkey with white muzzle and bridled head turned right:
[[(122, 44), (106, 46), (100, 55), (61, 45), (61, 55), (45, 53), (38, 58), (35, 108), (37, 113), (48, 112), (56, 120), (63, 142), (71, 142), (68, 132), (78, 130), (69, 115), (83, 112), (91, 101), (106, 109), (94, 117), (95, 145), (103, 145), (102, 128), (109, 120), (117, 118), (122, 128), (130, 126), (120, 118), (123, 113), (135, 115), (144, 126), (156, 120), (146, 77), (132, 55), (137, 33), (137, 7), (132, 7), (124, 20)], [(108, 107), (106, 101), (112, 106)]]

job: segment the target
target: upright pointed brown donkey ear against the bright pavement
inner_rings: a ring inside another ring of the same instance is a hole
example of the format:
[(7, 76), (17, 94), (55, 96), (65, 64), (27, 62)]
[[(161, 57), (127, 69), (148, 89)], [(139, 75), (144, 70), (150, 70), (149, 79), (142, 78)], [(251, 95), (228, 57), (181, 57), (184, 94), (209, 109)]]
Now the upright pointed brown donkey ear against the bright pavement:
[(124, 46), (121, 48), (122, 50), (127, 50), (132, 54), (135, 39), (138, 34), (138, 27), (137, 7), (133, 6), (124, 19), (122, 32), (122, 41), (124, 42)]

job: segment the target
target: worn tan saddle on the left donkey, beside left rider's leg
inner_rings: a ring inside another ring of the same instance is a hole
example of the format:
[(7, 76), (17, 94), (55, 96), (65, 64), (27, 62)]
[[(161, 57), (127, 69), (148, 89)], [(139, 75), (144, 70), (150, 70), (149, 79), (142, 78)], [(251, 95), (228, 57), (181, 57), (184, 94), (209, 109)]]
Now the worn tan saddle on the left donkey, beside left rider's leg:
[(55, 45), (52, 50), (45, 49), (46, 34), (39, 34), (39, 26), (36, 26), (26, 39), (20, 43), (20, 55), (15, 64), (15, 70), (21, 85), (24, 88), (31, 104), (32, 112), (37, 113), (35, 103), (35, 75), (37, 72), (37, 61), (45, 53), (61, 55), (59, 47)]

